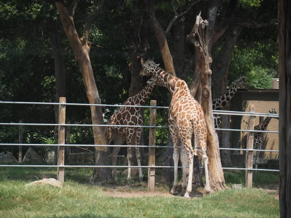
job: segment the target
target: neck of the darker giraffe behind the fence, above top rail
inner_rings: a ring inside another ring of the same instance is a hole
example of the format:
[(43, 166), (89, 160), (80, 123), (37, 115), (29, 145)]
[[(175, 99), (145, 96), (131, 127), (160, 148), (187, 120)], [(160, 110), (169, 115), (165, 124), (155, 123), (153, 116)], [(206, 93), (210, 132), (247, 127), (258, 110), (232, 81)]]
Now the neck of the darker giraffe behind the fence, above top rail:
[(125, 105), (144, 105), (146, 103), (146, 100), (152, 93), (153, 89), (155, 87), (155, 83), (147, 83), (145, 88), (140, 91), (139, 93), (130, 96), (126, 102)]

